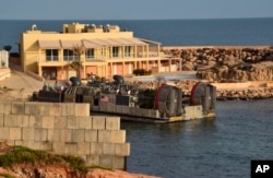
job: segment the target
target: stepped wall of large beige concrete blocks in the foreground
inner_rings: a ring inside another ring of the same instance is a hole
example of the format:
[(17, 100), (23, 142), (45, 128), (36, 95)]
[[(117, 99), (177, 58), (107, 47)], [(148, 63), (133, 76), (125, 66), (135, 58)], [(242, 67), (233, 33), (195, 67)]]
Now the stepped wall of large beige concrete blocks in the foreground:
[(120, 118), (90, 116), (90, 104), (0, 102), (0, 141), (115, 169), (130, 155)]

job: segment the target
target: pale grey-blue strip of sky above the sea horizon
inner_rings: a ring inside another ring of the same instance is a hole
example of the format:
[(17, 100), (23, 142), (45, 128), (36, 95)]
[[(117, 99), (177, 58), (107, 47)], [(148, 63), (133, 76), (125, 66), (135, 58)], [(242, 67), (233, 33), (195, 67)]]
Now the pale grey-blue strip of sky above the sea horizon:
[(273, 17), (273, 0), (5, 0), (1, 20)]

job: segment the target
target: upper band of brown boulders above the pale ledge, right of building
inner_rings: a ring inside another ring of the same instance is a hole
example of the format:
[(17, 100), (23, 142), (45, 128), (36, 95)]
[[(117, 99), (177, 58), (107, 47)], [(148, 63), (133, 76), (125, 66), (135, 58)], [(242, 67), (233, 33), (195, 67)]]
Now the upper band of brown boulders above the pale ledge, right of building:
[(181, 69), (197, 70), (197, 78), (211, 82), (273, 80), (272, 47), (163, 48), (180, 58)]

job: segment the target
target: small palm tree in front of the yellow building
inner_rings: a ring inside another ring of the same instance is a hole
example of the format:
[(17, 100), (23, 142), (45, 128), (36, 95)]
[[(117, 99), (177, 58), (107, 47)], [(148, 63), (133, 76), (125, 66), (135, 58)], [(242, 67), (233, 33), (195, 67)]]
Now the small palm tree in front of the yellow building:
[(78, 57), (78, 61), (73, 61), (71, 63), (71, 67), (73, 69), (78, 70), (78, 76), (81, 79), (81, 67), (82, 67), (81, 57), (82, 57), (82, 55), (85, 54), (85, 47), (83, 45), (74, 45), (72, 47), (72, 50), (75, 54), (75, 56)]

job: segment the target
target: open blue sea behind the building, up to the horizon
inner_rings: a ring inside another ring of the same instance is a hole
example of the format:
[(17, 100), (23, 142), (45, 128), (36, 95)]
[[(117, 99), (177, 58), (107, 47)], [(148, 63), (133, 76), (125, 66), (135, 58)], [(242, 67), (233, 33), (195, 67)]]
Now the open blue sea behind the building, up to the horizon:
[(134, 20), (134, 21), (16, 21), (0, 20), (0, 48), (11, 45), (17, 52), (20, 34), (32, 28), (61, 32), (63, 23), (118, 25), (132, 31), (135, 37), (161, 43), (163, 46), (273, 46), (273, 17), (226, 20)]

